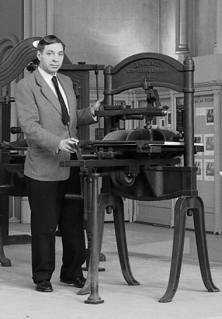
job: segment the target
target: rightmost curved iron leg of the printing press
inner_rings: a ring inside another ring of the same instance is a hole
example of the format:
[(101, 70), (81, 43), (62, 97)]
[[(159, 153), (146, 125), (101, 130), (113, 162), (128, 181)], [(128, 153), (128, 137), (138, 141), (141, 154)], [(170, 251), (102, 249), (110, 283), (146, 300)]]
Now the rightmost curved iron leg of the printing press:
[(204, 203), (200, 197), (195, 199), (195, 209), (193, 211), (193, 220), (195, 225), (195, 237), (197, 242), (197, 254), (200, 263), (200, 271), (205, 287), (209, 292), (219, 292), (211, 278), (209, 267), (209, 256), (207, 250), (207, 238), (204, 221)]

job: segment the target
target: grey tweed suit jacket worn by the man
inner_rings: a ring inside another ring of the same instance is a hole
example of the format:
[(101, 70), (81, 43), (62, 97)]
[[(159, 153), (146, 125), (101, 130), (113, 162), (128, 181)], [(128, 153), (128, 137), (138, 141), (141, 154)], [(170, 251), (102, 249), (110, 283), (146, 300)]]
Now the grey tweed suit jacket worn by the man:
[[(77, 127), (95, 123), (90, 108), (77, 110), (70, 77), (57, 73), (70, 109), (70, 129), (61, 116), (61, 106), (50, 86), (35, 70), (18, 82), (15, 88), (15, 105), (18, 122), (27, 139), (25, 175), (39, 181), (64, 181), (70, 168), (60, 167), (60, 161), (70, 160), (70, 152), (60, 150), (60, 141), (77, 138)], [(69, 134), (70, 131), (70, 134)]]

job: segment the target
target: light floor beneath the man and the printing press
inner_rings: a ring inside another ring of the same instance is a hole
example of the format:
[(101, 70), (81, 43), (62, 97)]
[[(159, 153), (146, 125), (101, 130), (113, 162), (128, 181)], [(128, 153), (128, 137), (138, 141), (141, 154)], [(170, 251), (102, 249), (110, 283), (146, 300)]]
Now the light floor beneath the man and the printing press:
[[(103, 304), (85, 304), (79, 289), (59, 282), (61, 240), (56, 239), (54, 291), (34, 290), (30, 268), (30, 245), (5, 246), (11, 268), (0, 268), (1, 318), (6, 319), (222, 319), (221, 292), (209, 293), (203, 285), (195, 247), (195, 234), (186, 231), (181, 279), (171, 303), (159, 303), (169, 279), (174, 230), (138, 223), (126, 223), (131, 270), (138, 286), (126, 284), (119, 266), (115, 231), (105, 223), (102, 252), (106, 261), (99, 273), (99, 294)], [(10, 234), (30, 234), (30, 225), (11, 224)], [(207, 234), (211, 275), (222, 289), (222, 236)], [(85, 273), (87, 275), (87, 273)]]

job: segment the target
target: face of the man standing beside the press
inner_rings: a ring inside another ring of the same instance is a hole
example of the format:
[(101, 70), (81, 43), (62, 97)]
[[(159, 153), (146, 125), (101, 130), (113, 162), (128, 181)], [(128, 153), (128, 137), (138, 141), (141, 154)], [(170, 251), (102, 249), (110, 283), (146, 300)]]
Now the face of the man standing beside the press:
[(60, 43), (48, 44), (42, 53), (38, 51), (39, 66), (48, 74), (54, 75), (63, 64), (64, 50)]

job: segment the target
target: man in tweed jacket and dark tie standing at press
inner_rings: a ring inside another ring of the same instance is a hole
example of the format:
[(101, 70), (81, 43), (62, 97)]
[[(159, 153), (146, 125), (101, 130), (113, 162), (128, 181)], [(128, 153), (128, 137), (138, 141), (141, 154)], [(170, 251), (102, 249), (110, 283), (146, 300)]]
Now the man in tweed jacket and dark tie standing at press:
[(77, 127), (95, 123), (94, 111), (103, 101), (77, 110), (71, 79), (58, 73), (64, 50), (63, 42), (53, 35), (40, 39), (39, 67), (15, 89), (18, 121), (28, 144), (25, 178), (31, 208), (32, 279), (39, 292), (53, 291), (57, 225), (63, 242), (60, 282), (79, 288), (86, 282), (81, 270), (85, 261), (83, 204), (64, 198), (65, 193), (79, 192), (79, 169), (59, 163), (70, 160), (70, 155), (77, 159)]

